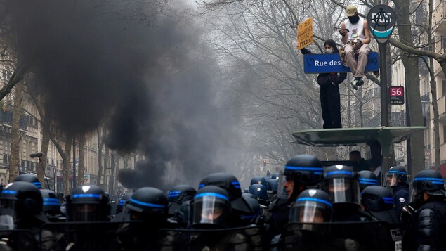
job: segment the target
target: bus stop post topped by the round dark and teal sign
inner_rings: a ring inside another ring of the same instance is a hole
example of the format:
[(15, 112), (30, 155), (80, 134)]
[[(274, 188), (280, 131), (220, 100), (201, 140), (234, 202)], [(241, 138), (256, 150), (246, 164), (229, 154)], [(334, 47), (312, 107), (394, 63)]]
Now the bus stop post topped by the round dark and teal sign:
[[(393, 8), (387, 5), (379, 4), (373, 6), (367, 14), (367, 22), (369, 22), (370, 31), (378, 41), (379, 68), (381, 69), (381, 126), (388, 127), (388, 94), (387, 94), (387, 65), (386, 65), (386, 47), (388, 38), (391, 37), (393, 28), (395, 27), (396, 15)], [(384, 150), (384, 149), (383, 149)], [(391, 155), (383, 153), (383, 161), (381, 163), (381, 174), (386, 174), (391, 163)], [(382, 184), (385, 184), (386, 176), (382, 175)]]

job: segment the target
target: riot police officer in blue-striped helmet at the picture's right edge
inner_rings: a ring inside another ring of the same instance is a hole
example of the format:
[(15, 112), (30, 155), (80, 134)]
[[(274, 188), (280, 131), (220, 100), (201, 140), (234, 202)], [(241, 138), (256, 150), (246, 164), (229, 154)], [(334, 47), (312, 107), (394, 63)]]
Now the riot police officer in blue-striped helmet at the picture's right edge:
[(412, 182), (409, 218), (402, 240), (403, 250), (445, 250), (446, 193), (445, 181), (439, 172), (423, 170)]

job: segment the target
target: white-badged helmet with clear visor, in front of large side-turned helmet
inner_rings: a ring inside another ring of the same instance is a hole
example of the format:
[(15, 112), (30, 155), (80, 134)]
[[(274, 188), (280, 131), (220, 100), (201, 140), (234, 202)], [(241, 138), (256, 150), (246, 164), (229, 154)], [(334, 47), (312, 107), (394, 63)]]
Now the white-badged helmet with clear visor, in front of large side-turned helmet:
[[(332, 202), (327, 193), (320, 189), (307, 189), (299, 194), (291, 207), (289, 222), (324, 223), (332, 220)], [(303, 224), (301, 228), (308, 231), (320, 231), (317, 224)]]

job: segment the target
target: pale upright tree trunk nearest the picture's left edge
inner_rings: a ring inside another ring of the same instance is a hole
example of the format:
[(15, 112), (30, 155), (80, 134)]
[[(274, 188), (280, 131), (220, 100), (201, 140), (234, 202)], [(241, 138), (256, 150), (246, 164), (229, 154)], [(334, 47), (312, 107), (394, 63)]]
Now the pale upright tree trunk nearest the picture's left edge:
[[(15, 85), (15, 97), (13, 108), (13, 122), (11, 129), (11, 161), (9, 163), (9, 182), (12, 182), (19, 175), (20, 168), (20, 112), (22, 111), (23, 101), (23, 81)], [(40, 180), (42, 183), (43, 180)]]

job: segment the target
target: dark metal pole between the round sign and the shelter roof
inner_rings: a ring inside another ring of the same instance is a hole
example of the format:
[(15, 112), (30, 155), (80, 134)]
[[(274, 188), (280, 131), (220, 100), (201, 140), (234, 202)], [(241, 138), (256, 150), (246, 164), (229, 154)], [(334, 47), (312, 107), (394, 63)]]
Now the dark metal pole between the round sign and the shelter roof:
[(379, 44), (379, 68), (381, 71), (381, 126), (388, 127), (388, 91), (387, 91), (387, 65), (386, 48), (387, 43)]

